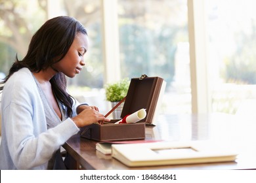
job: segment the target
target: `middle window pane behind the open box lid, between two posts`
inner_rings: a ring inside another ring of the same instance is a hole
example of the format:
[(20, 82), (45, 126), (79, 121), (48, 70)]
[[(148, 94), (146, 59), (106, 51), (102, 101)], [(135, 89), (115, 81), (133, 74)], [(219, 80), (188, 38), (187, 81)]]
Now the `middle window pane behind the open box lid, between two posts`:
[(186, 0), (118, 1), (121, 76), (167, 82), (161, 112), (190, 113)]

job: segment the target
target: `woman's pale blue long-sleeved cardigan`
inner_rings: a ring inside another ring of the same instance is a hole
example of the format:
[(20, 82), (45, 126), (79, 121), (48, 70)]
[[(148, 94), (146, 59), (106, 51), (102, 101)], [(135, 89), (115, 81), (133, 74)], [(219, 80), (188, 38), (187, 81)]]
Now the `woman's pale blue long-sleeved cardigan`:
[(0, 169), (47, 169), (53, 153), (79, 131), (70, 118), (47, 129), (43, 103), (27, 68), (5, 83), (1, 110)]

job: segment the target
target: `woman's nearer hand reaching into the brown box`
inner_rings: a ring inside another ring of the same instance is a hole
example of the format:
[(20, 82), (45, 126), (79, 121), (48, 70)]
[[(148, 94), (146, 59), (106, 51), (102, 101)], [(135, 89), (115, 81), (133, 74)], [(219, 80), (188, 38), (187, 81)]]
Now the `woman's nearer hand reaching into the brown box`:
[(72, 118), (77, 127), (83, 127), (85, 125), (90, 125), (99, 121), (110, 122), (108, 118), (105, 118), (103, 114), (98, 112), (97, 107), (82, 105), (79, 107), (77, 112), (78, 111), (79, 114)]

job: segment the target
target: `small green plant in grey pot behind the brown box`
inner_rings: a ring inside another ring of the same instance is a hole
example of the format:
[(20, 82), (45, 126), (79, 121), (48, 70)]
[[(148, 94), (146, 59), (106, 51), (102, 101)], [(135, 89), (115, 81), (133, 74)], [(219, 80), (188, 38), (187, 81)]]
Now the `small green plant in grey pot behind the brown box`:
[[(128, 78), (124, 78), (111, 84), (106, 84), (104, 87), (106, 92), (106, 100), (111, 102), (112, 108), (127, 95), (129, 84), (130, 80)], [(114, 119), (120, 118), (122, 109), (123, 103), (121, 103), (121, 105), (114, 110)]]

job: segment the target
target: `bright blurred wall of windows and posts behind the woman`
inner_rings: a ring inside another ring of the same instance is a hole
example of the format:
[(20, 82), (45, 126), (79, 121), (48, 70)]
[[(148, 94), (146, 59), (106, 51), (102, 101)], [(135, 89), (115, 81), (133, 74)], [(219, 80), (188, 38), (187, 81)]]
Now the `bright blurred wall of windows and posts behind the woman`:
[(142, 74), (167, 82), (161, 114), (256, 112), (253, 0), (0, 0), (0, 79), (49, 18), (87, 28), (86, 67), (68, 79), (77, 100), (110, 110), (104, 85)]

